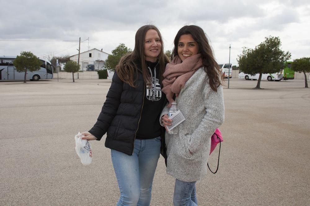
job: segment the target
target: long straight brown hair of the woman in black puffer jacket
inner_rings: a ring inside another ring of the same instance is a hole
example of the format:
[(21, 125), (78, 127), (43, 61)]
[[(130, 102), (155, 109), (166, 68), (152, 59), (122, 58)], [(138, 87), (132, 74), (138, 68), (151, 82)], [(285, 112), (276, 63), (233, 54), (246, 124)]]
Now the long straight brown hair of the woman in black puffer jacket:
[(118, 65), (116, 66), (116, 73), (118, 77), (123, 82), (129, 84), (132, 87), (137, 86), (135, 85), (135, 81), (138, 77), (137, 69), (139, 69), (140, 67), (142, 69), (141, 72), (143, 74), (144, 82), (148, 84), (151, 83), (149, 82), (151, 76), (147, 70), (146, 58), (144, 54), (145, 34), (149, 29), (154, 29), (158, 33), (158, 36), (162, 44), (161, 52), (157, 57), (160, 70), (159, 75), (160, 82), (162, 82), (163, 80), (162, 74), (165, 72), (165, 65), (166, 63), (169, 63), (169, 59), (164, 53), (164, 44), (162, 41), (162, 35), (160, 34), (158, 28), (154, 25), (144, 25), (140, 27), (135, 34), (135, 48), (133, 52), (124, 55), (119, 61)]

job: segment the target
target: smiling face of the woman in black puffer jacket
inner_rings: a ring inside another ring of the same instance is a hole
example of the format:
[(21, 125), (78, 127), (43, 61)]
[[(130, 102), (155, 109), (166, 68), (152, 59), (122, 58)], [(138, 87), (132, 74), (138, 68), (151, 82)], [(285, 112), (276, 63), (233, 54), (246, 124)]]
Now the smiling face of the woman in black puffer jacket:
[(156, 30), (149, 29), (145, 34), (144, 55), (147, 61), (156, 62), (162, 51), (162, 42)]

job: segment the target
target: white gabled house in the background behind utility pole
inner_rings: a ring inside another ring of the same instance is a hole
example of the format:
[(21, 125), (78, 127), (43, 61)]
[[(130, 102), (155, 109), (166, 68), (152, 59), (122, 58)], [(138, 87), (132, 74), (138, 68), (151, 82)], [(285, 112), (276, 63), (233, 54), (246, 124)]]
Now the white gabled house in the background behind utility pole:
[[(100, 51), (99, 49), (96, 48), (80, 53), (80, 66), (81, 66), (80, 70), (86, 71), (87, 65), (89, 64), (93, 64), (95, 70), (104, 69), (105, 61), (108, 58), (108, 55), (109, 54), (103, 52), (102, 49)], [(78, 62), (78, 54), (71, 56), (70, 60)]]

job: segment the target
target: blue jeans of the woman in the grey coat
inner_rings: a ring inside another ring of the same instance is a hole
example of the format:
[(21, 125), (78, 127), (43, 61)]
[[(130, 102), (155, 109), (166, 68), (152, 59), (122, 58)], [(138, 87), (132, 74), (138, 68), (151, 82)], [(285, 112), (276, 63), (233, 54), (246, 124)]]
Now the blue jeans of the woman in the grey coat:
[(196, 181), (183, 182), (175, 179), (175, 191), (173, 194), (175, 206), (197, 206)]

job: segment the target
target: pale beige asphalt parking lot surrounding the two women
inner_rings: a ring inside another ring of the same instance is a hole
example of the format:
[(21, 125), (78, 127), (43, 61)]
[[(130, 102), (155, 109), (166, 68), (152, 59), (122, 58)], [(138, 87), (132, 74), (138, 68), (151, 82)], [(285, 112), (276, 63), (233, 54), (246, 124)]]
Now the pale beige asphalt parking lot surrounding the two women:
[[(253, 89), (256, 83), (230, 79), (224, 87), (219, 171), (197, 183), (199, 205), (309, 205), (310, 88), (304, 80), (262, 81), (260, 90)], [(90, 166), (74, 149), (74, 135), (93, 126), (110, 84), (0, 82), (0, 205), (116, 204), (119, 190), (104, 138), (91, 141)], [(173, 205), (174, 181), (161, 157), (151, 205)]]

